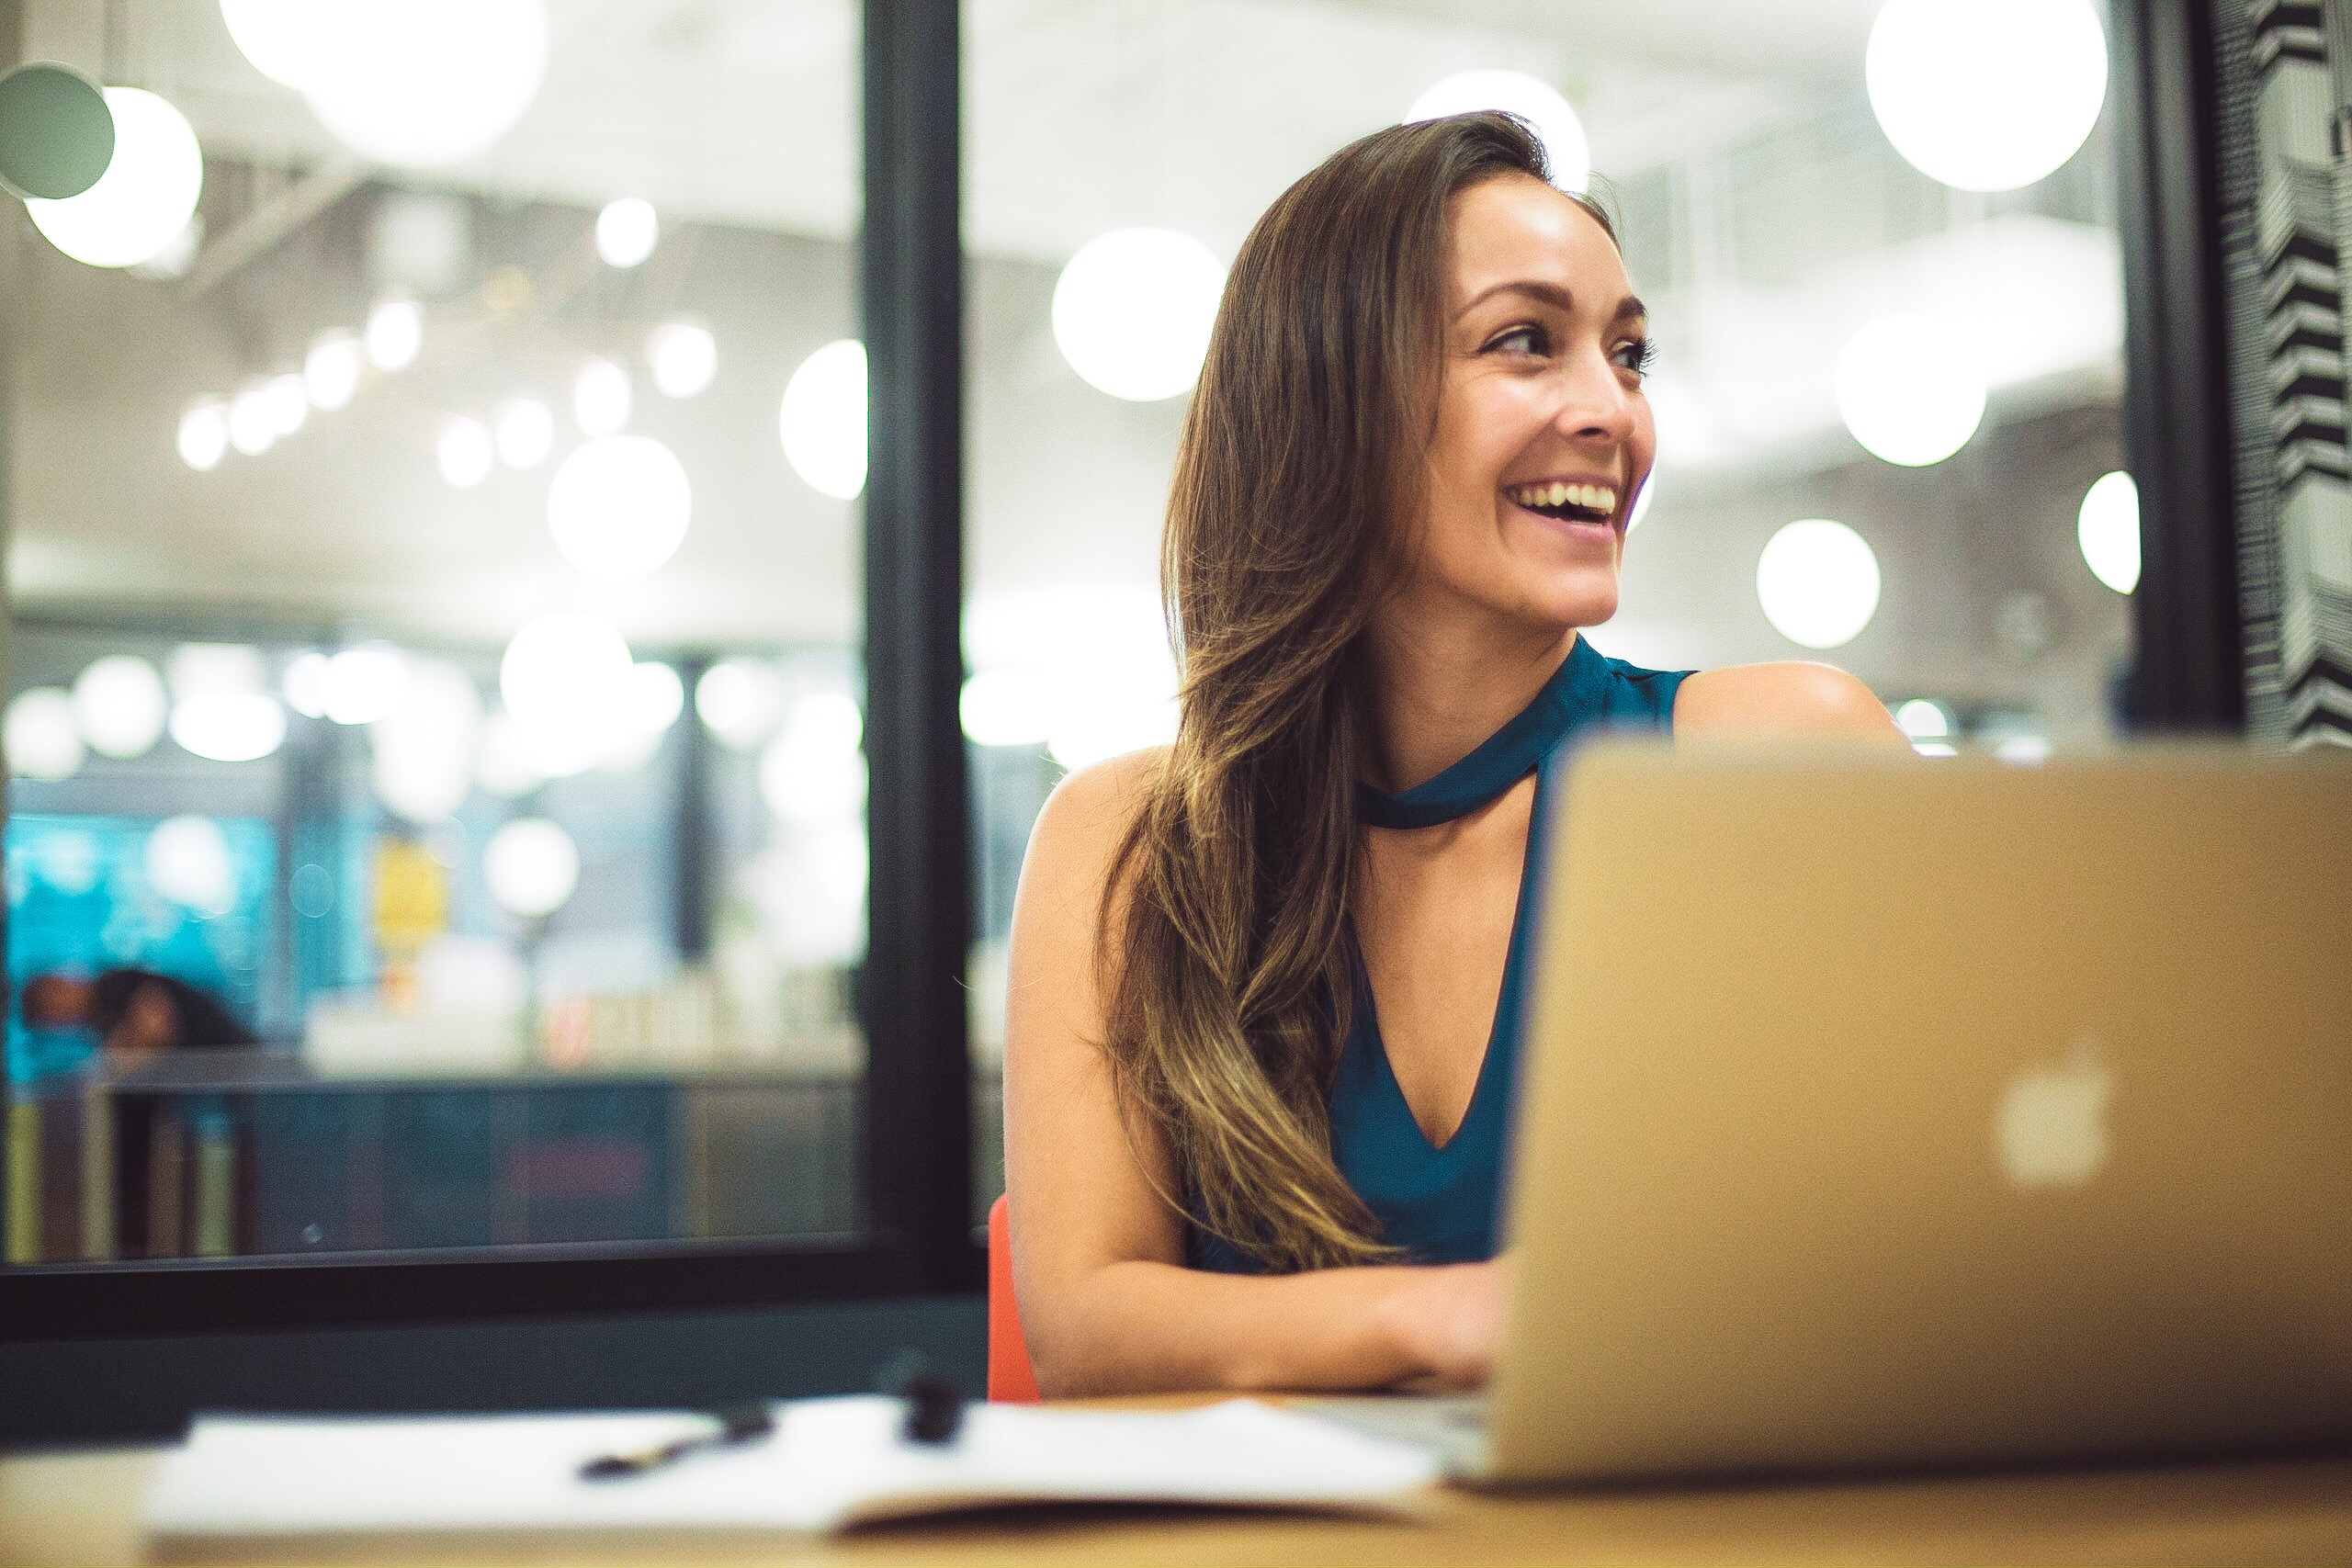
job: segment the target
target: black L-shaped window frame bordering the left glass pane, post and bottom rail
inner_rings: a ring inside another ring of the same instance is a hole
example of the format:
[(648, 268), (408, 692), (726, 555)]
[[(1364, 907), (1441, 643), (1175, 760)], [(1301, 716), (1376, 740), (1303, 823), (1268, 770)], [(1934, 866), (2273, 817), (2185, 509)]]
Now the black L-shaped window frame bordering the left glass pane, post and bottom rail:
[[(0, 0), (0, 61), (21, 5)], [(708, 1312), (976, 1291), (964, 952), (962, 89), (957, 0), (866, 0), (861, 317), (870, 376), (868, 1067), (842, 1237), (0, 1267), (0, 1342)], [(12, 362), (0, 310), (0, 371)], [(0, 397), (0, 527), (9, 407)], [(5, 614), (5, 611), (0, 611)], [(0, 618), (0, 651), (7, 621)], [(5, 1091), (0, 1091), (5, 1095)], [(7, 1201), (0, 1161), (0, 1204)]]

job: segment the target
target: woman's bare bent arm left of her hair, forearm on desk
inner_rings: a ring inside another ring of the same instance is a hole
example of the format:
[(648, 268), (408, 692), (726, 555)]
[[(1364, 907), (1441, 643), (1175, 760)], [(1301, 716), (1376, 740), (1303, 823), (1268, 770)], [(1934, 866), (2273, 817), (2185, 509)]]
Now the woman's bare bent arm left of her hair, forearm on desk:
[(1021, 865), (1004, 1166), (1037, 1387), (1068, 1396), (1484, 1380), (1501, 1331), (1494, 1265), (1272, 1279), (1183, 1267), (1183, 1222), (1152, 1187), (1176, 1190), (1174, 1161), (1150, 1126), (1120, 1112), (1096, 985), (1110, 863), (1157, 766), (1160, 752), (1138, 752), (1070, 776)]

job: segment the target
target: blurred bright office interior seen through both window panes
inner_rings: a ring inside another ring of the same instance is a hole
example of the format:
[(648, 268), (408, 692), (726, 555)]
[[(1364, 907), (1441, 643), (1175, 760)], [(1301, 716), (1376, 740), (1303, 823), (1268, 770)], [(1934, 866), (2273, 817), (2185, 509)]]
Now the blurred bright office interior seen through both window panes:
[[(1621, 212), (1661, 458), (1597, 646), (1830, 658), (1931, 755), (2112, 731), (2100, 19), (1971, 9), (964, 7), (981, 1204), (1028, 827), (1171, 733), (1223, 266), (1359, 134), (1517, 108)], [(118, 162), (0, 207), (7, 1260), (854, 1232), (856, 7), (16, 14)], [(24, 1009), (108, 971), (254, 1044)]]

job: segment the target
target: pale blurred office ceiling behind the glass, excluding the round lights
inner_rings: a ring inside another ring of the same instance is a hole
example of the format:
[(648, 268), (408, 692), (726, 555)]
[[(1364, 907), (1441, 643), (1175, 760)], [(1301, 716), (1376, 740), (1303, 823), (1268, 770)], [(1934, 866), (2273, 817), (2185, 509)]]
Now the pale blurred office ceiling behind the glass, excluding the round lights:
[[(282, 369), (310, 331), (355, 320), (376, 193), (329, 207), (205, 296), (80, 268), (14, 223), (0, 242), (0, 287), (28, 324), (12, 364), (19, 611), (263, 616), (496, 646), (529, 614), (588, 602), (649, 646), (854, 637), (856, 510), (800, 484), (774, 416), (800, 357), (854, 331), (844, 240), (858, 188), (856, 7), (550, 0), (550, 68), (522, 125), (456, 169), (402, 183), (487, 197), (480, 266), (515, 261), (541, 282), (579, 261), (586, 209), (612, 195), (647, 195), (673, 233), (696, 223), (701, 233), (666, 244), (640, 275), (600, 275), (546, 322), (485, 322), (470, 294), (445, 301), (428, 353), (437, 364), (376, 386), (263, 458), (230, 456), (195, 475), (169, 449), (188, 397)], [(1875, 9), (1877, 0), (974, 0), (964, 221), (978, 259), (967, 494), (976, 597), (1138, 590), (1152, 578), (1181, 400), (1120, 404), (1061, 362), (1047, 299), (1054, 268), (1080, 242), (1110, 226), (1167, 223), (1230, 256), (1291, 179), (1392, 122), (1435, 78), (1512, 66), (1578, 103), (1599, 172), (1635, 183), (1649, 172), (1661, 190), (1679, 193), (1686, 169), (1726, 179), (1731, 153), (1795, 136), (1776, 153), (1766, 216), (1804, 244), (1785, 259), (1773, 252), (1769, 268), (1750, 244), (1757, 266), (1745, 273), (1736, 244), (1693, 261), (1677, 195), (1661, 230), (1665, 254), (1635, 256), (1668, 329), (1661, 409), (1679, 397), (1686, 414), (1665, 423), (1691, 437), (1635, 541), (1637, 557), (1679, 562), (1679, 576), (1653, 569), (1635, 581), (1684, 599), (1684, 625), (1710, 628), (1705, 658), (1785, 654), (1769, 628), (1757, 630), (1745, 569), (1724, 576), (1708, 564), (1710, 531), (1729, 529), (1726, 545), (1736, 534), (1731, 548), (1752, 552), (1743, 508), (1797, 503), (1759, 501), (1762, 480), (1743, 473), (1802, 477), (1853, 461), (1823, 367), (1856, 310), (1933, 296), (1990, 320), (2025, 350), (2009, 376), (2011, 411), (2105, 400), (2114, 383), (2112, 233), (1950, 202), (1919, 221), (1896, 212), (1917, 205), (1905, 195), (1917, 181), (1886, 167), (1860, 108)], [(26, 45), (155, 87), (191, 115), (216, 160), (214, 240), (268, 202), (270, 167), (339, 158), (308, 108), (242, 61), (214, 0), (31, 0)], [(1825, 134), (1844, 141), (1816, 146)], [(2037, 294), (2034, 277), (2070, 282)], [(2025, 301), (2027, 315), (2004, 315), (2002, 301)], [(635, 428), (687, 461), (694, 529), (644, 583), (590, 590), (548, 541), (548, 470), (454, 494), (433, 470), (433, 425), (513, 390), (560, 395), (581, 355), (628, 353), (633, 334), (670, 308), (713, 320), (720, 381), (668, 404), (640, 378)], [(1693, 414), (1693, 402), (1705, 407)], [(1712, 458), (1750, 468), (1693, 473), (1710, 458), (1708, 440)], [(1856, 522), (1924, 527), (1900, 515)], [(1658, 529), (1705, 538), (1658, 548)], [(1933, 538), (1919, 534), (1898, 555), (1931, 562)], [(1994, 597), (2006, 581), (1992, 569), (1976, 576)], [(1642, 651), (1668, 656), (1661, 649)], [(1898, 656), (1907, 658), (1886, 644), (1886, 658)]]

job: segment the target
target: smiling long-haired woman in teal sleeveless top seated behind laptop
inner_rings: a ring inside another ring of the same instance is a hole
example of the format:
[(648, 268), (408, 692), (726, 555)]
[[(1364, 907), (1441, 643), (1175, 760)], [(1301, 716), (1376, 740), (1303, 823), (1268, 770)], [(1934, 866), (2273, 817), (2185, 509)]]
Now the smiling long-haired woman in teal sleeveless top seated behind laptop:
[(1477, 1385), (1538, 773), (1599, 726), (1900, 745), (1825, 665), (1635, 670), (1649, 339), (1508, 115), (1301, 179), (1169, 498), (1171, 748), (1070, 776), (1011, 938), (1007, 1168), (1047, 1394)]

